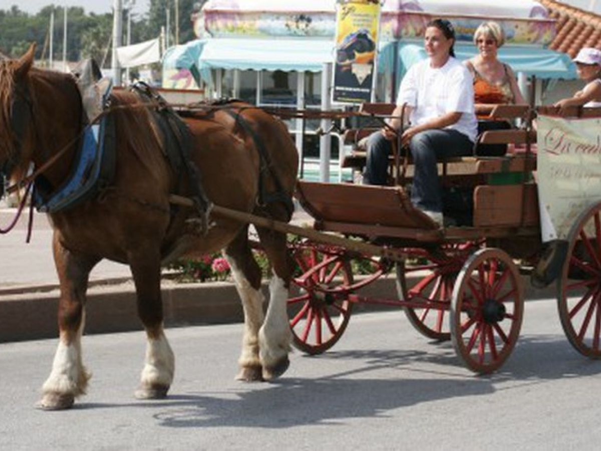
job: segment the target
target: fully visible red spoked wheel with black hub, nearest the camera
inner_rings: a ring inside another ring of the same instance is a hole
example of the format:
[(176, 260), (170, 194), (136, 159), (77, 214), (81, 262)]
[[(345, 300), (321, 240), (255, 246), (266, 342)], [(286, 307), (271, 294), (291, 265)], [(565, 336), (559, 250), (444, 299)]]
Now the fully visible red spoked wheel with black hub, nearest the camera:
[(504, 251), (475, 252), (463, 265), (451, 301), (451, 339), (476, 373), (501, 367), (522, 327), (523, 296), (517, 266)]

